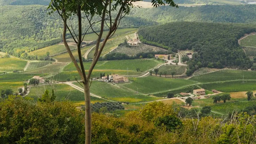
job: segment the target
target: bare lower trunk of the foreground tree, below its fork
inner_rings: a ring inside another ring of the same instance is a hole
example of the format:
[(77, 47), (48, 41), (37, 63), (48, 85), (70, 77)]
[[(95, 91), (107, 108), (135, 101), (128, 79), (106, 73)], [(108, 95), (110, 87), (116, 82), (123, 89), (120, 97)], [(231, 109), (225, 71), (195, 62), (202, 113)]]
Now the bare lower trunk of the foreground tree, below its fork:
[(84, 100), (85, 100), (85, 143), (90, 144), (92, 142), (92, 112), (91, 112), (91, 100), (90, 100), (90, 86), (87, 80), (84, 83)]

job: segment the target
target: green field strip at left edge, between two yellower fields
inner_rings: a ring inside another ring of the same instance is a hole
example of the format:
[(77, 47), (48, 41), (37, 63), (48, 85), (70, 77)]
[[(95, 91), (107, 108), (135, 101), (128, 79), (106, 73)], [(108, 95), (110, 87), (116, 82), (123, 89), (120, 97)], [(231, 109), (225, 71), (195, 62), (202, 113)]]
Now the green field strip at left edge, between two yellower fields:
[(0, 75), (0, 82), (28, 81), (34, 76), (35, 75), (33, 74), (7, 73), (5, 75)]

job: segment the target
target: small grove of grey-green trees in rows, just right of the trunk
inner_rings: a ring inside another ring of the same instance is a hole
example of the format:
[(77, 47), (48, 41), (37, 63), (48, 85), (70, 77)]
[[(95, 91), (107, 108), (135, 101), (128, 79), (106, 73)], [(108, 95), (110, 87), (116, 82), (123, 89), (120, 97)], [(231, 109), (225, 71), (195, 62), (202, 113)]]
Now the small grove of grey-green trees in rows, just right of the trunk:
[[(113, 110), (124, 110), (124, 106), (122, 106), (122, 102), (96, 102), (91, 104), (92, 112), (108, 112)], [(82, 105), (82, 109), (84, 109), (84, 105)]]

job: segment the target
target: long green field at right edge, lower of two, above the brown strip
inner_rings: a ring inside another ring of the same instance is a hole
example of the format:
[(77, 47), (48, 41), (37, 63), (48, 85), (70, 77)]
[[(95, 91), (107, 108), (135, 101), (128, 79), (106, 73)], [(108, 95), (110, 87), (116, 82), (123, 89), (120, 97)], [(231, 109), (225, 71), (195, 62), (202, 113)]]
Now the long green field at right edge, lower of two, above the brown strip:
[(222, 92), (236, 92), (246, 90), (256, 90), (256, 81), (229, 81), (220, 83), (209, 83), (201, 85), (202, 88), (212, 90), (216, 89)]

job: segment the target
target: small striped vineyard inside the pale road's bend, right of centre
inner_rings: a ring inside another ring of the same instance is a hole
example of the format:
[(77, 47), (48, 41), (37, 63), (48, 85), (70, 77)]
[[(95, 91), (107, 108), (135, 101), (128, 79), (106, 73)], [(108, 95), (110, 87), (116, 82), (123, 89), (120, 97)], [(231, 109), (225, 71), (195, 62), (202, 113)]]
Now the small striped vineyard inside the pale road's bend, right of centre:
[[(164, 73), (166, 73), (166, 75), (172, 75), (172, 72), (175, 72), (174, 75), (183, 75), (186, 72), (186, 66), (184, 65), (162, 65), (161, 67), (158, 68), (158, 74), (161, 72), (162, 75), (164, 75)], [(155, 73), (154, 71), (152, 71), (152, 73)]]

